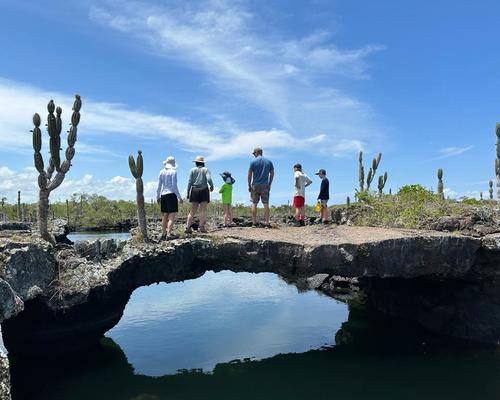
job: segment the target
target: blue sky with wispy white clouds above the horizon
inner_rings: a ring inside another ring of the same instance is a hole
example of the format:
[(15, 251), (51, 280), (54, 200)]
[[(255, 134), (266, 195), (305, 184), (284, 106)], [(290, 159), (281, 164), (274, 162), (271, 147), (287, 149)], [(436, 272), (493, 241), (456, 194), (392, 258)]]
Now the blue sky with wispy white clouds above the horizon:
[[(186, 186), (191, 160), (246, 171), (273, 159), (275, 204), (292, 166), (325, 168), (333, 202), (382, 152), (386, 188), (487, 193), (500, 120), (495, 1), (0, 0), (0, 196), (36, 198), (31, 115), (53, 98), (68, 121), (83, 99), (74, 165), (54, 200), (86, 191), (132, 199), (127, 156), (141, 148), (146, 196), (167, 155)], [(44, 137), (46, 139), (47, 136)], [(45, 140), (45, 145), (47, 140)], [(47, 152), (47, 151), (46, 151)], [(216, 176), (216, 183), (219, 177)], [(315, 201), (319, 182), (309, 190)]]

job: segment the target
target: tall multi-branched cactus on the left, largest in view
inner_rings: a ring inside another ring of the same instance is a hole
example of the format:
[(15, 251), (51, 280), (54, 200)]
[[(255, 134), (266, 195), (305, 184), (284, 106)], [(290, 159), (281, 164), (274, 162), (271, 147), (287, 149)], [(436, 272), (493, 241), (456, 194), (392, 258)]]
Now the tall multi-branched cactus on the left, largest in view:
[[(40, 115), (33, 115), (33, 125), (35, 126), (33, 132), (33, 150), (34, 162), (38, 175), (38, 230), (43, 239), (56, 244), (55, 239), (48, 231), (47, 219), (49, 215), (49, 195), (54, 189), (57, 189), (63, 182), (66, 173), (71, 167), (71, 160), (75, 156), (75, 143), (78, 123), (80, 122), (80, 108), (82, 107), (82, 100), (79, 95), (75, 95), (73, 103), (73, 114), (71, 115), (71, 127), (68, 131), (68, 147), (66, 148), (65, 159), (61, 163), (61, 130), (62, 120), (61, 107), (57, 107), (53, 100), (49, 101), (47, 105), (47, 131), (49, 133), (49, 149), (50, 159), (47, 169), (44, 169), (44, 162), (40, 150), (42, 149), (42, 132), (40, 130), (41, 118)], [(54, 111), (56, 115), (54, 115)], [(52, 177), (56, 172), (56, 175)]]

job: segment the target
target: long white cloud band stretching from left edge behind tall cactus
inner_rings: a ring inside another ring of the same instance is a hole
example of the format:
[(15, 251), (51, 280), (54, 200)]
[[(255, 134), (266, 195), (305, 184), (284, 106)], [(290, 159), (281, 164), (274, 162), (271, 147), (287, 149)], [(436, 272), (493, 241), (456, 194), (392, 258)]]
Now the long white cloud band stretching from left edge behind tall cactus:
[[(68, 94), (44, 91), (39, 88), (0, 79), (0, 148), (11, 151), (32, 151), (31, 117), (33, 111), (42, 113), (48, 99), (55, 99), (63, 107), (63, 116), (68, 117), (72, 97)], [(227, 131), (220, 126), (206, 126), (187, 122), (161, 114), (137, 111), (123, 104), (93, 101), (83, 98), (80, 132), (87, 137), (106, 136), (119, 133), (140, 140), (167, 138), (184, 150), (200, 152), (210, 160), (247, 157), (250, 149), (262, 146), (273, 151), (313, 148), (324, 142), (326, 136), (295, 136), (279, 129), (244, 131), (231, 124)], [(15, 115), (16, 118), (11, 118)], [(81, 138), (82, 135), (79, 136)], [(325, 149), (334, 155), (343, 155), (357, 149), (361, 142), (340, 140)], [(113, 150), (102, 146), (78, 143), (77, 151), (86, 154), (119, 156)]]

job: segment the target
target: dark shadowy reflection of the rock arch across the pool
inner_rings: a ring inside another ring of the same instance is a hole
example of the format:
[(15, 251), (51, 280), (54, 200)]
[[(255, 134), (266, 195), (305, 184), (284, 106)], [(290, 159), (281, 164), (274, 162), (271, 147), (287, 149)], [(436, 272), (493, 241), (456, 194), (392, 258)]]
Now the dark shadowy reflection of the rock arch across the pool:
[[(394, 320), (387, 326), (376, 314), (353, 307), (337, 334), (343, 344), (333, 348), (221, 363), (212, 374), (183, 370), (163, 377), (135, 375), (120, 347), (105, 338), (95, 351), (71, 358), (12, 360), (14, 399), (420, 400), (493, 399), (498, 394), (500, 362), (493, 352), (443, 343), (434, 351), (418, 335), (407, 342), (418, 346), (404, 347), (397, 343), (403, 330), (412, 327)], [(427, 340), (432, 344), (435, 338)]]

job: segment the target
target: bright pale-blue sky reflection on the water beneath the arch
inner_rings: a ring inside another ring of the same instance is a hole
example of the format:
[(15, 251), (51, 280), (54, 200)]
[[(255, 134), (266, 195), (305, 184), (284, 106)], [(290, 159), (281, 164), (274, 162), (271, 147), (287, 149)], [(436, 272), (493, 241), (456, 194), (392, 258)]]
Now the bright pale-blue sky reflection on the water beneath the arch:
[(137, 289), (107, 336), (136, 373), (160, 376), (332, 345), (347, 314), (346, 305), (299, 293), (274, 274), (207, 272)]

